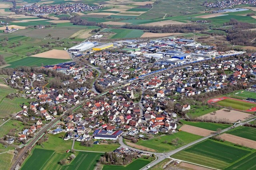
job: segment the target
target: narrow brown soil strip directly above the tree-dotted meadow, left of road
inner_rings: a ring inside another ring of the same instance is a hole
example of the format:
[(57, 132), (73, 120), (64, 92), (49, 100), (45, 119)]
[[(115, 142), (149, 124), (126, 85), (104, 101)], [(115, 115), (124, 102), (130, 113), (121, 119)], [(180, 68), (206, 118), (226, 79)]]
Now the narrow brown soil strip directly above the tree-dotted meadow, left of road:
[(203, 129), (200, 127), (195, 127), (195, 126), (191, 126), (191, 125), (183, 125), (180, 130), (188, 132), (188, 133), (192, 133), (194, 135), (199, 135), (199, 136), (208, 136), (211, 133), (214, 133), (214, 131), (210, 131), (208, 129)]

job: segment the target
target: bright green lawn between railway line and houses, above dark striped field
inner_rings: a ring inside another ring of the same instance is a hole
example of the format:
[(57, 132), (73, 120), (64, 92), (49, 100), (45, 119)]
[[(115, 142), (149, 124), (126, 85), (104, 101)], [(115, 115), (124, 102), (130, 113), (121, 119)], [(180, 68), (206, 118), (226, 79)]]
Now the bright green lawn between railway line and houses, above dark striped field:
[[(55, 150), (57, 152), (65, 153), (66, 150), (71, 149), (72, 140), (64, 141), (63, 137), (66, 133), (58, 133), (56, 135), (47, 134), (48, 141), (43, 143), (43, 148), (48, 150)], [(36, 148), (42, 149), (41, 146), (37, 145)]]

